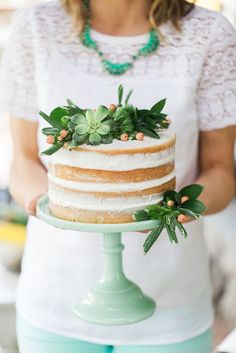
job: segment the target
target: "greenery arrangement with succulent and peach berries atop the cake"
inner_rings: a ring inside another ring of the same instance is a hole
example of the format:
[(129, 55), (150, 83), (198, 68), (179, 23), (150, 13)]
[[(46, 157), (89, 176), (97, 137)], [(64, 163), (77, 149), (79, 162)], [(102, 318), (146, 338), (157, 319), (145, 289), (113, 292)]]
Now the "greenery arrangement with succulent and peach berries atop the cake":
[(47, 143), (52, 145), (42, 154), (51, 155), (64, 144), (72, 149), (82, 144), (109, 144), (114, 139), (142, 141), (145, 136), (160, 138), (158, 131), (167, 129), (170, 124), (167, 114), (163, 113), (166, 99), (151, 109), (138, 109), (129, 104), (131, 94), (132, 90), (123, 102), (124, 89), (120, 85), (117, 105), (82, 109), (68, 100), (66, 106), (55, 108), (50, 115), (40, 112), (40, 116), (51, 125), (42, 132), (47, 136)]

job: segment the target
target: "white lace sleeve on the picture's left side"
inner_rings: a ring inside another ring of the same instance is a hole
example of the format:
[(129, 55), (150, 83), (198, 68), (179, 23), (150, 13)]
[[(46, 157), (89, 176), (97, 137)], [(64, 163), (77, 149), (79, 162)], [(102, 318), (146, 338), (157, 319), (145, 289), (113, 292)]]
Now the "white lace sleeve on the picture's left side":
[(0, 76), (0, 108), (14, 117), (36, 121), (38, 104), (35, 85), (30, 11), (14, 15), (3, 54)]

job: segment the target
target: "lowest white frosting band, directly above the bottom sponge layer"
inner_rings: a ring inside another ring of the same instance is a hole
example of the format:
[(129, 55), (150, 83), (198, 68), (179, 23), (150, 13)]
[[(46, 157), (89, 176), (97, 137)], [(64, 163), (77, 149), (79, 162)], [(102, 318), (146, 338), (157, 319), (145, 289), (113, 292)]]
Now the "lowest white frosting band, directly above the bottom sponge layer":
[(133, 211), (156, 204), (161, 201), (162, 194), (138, 196), (138, 197), (116, 197), (103, 198), (89, 194), (74, 193), (63, 189), (51, 187), (48, 192), (50, 201), (63, 207), (91, 211)]

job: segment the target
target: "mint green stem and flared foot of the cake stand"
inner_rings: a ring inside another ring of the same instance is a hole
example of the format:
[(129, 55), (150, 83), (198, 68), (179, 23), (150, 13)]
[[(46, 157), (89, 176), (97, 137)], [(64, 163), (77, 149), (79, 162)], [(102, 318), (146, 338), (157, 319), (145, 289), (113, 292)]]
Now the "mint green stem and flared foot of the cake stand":
[(156, 305), (123, 273), (121, 233), (104, 233), (103, 237), (103, 275), (87, 297), (74, 306), (74, 312), (82, 320), (102, 325), (127, 325), (147, 319)]

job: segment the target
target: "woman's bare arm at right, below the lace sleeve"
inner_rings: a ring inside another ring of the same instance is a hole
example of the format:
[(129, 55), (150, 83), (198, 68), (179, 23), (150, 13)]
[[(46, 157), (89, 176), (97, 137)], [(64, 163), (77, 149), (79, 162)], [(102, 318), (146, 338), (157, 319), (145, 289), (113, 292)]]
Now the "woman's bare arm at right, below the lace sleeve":
[(223, 210), (235, 195), (235, 137), (235, 126), (200, 133), (200, 175), (196, 182), (205, 187), (199, 199), (208, 208), (206, 214)]

